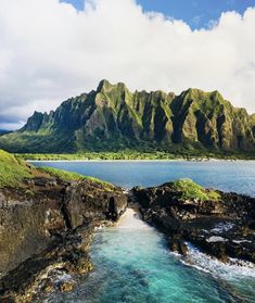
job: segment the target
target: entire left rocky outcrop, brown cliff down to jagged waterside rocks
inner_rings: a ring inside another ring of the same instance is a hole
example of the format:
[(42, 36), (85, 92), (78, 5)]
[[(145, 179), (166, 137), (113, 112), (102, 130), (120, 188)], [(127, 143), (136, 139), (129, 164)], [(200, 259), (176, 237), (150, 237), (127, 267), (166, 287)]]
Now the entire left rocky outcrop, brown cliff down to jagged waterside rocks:
[(40, 176), (0, 189), (0, 301), (30, 302), (56, 268), (88, 273), (94, 227), (116, 220), (126, 205), (119, 188), (91, 180)]

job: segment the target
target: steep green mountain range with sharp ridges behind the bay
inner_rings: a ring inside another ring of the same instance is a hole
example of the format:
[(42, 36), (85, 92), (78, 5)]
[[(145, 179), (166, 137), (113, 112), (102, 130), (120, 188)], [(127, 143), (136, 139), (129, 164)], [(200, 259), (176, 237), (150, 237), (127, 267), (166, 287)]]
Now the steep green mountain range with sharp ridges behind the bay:
[(35, 112), (26, 125), (0, 137), (11, 152), (215, 151), (255, 152), (255, 115), (235, 109), (218, 91), (180, 96), (135, 91), (102, 80), (97, 90)]

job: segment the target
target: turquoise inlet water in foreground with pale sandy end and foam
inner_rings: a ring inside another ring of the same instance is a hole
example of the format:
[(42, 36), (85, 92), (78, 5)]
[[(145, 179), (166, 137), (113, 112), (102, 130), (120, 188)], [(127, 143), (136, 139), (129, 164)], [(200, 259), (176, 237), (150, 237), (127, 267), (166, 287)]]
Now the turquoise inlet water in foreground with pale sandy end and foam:
[(162, 235), (132, 213), (95, 235), (91, 257), (95, 268), (74, 293), (44, 302), (254, 302), (254, 268), (222, 265), (194, 248), (186, 258), (175, 255)]

